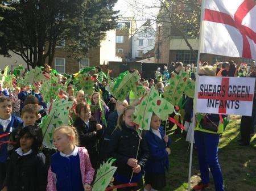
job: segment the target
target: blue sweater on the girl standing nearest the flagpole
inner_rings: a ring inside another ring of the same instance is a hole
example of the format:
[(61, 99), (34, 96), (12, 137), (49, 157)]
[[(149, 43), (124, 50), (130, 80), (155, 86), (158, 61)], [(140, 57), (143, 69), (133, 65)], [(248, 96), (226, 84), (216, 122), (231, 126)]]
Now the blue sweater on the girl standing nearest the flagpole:
[[(165, 168), (168, 169), (169, 159), (168, 152), (166, 151), (166, 142), (164, 142), (164, 128), (159, 128), (162, 139), (156, 136), (152, 130), (146, 131), (144, 138), (147, 141), (150, 150), (150, 158), (148, 159), (145, 167), (146, 173), (164, 173)], [(170, 146), (171, 139), (167, 143)]]

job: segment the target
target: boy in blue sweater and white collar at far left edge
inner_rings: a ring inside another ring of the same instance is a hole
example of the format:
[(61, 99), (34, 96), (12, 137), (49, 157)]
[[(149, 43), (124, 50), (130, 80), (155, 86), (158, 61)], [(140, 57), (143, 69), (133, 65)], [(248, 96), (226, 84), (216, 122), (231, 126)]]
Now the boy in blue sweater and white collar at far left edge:
[[(22, 126), (22, 120), (19, 117), (11, 115), (13, 107), (9, 97), (0, 97), (0, 138), (1, 142), (9, 141), (9, 134), (18, 126)], [(6, 174), (6, 159), (8, 156), (7, 144), (0, 146), (0, 187)]]

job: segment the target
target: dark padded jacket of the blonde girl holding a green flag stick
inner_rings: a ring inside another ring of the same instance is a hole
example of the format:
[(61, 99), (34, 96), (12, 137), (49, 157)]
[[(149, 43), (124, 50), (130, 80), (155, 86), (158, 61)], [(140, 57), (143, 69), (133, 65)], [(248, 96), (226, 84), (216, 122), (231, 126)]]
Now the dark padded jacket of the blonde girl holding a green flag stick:
[(138, 146), (139, 152), (137, 160), (138, 164), (141, 165), (143, 169), (150, 155), (146, 140), (142, 138), (139, 145), (139, 135), (137, 131), (127, 128), (125, 125), (122, 126), (122, 130), (114, 130), (108, 148), (108, 156), (109, 158), (117, 159), (115, 165), (117, 166), (116, 173), (118, 175), (131, 177), (133, 169), (127, 162), (130, 158), (136, 159)]

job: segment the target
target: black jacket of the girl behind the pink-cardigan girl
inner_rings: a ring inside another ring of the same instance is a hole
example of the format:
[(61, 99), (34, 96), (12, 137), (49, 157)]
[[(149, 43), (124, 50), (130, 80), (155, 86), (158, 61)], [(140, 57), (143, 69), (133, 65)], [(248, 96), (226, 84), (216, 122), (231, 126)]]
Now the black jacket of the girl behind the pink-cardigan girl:
[(96, 121), (89, 121), (87, 125), (80, 117), (76, 118), (74, 123), (77, 133), (79, 134), (80, 146), (85, 147), (88, 150), (90, 156), (90, 162), (93, 168), (98, 167), (98, 154), (100, 150), (100, 139), (102, 139), (103, 129), (96, 129)]

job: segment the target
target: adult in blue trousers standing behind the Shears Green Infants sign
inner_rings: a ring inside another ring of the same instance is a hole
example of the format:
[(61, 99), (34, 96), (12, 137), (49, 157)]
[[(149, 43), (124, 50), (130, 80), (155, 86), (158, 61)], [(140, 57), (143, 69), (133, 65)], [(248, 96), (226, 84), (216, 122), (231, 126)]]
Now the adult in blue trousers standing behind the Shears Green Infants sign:
[[(215, 74), (216, 69), (213, 66), (204, 66), (199, 70), (200, 76), (214, 77)], [(220, 122), (221, 118), (219, 114), (202, 113), (201, 115), (203, 118), (197, 121), (194, 138), (202, 182), (194, 186), (193, 190), (209, 188), (210, 168), (215, 189), (217, 191), (224, 191), (221, 168), (218, 163), (218, 142), (220, 141), (220, 134), (224, 131), (224, 126)]]

